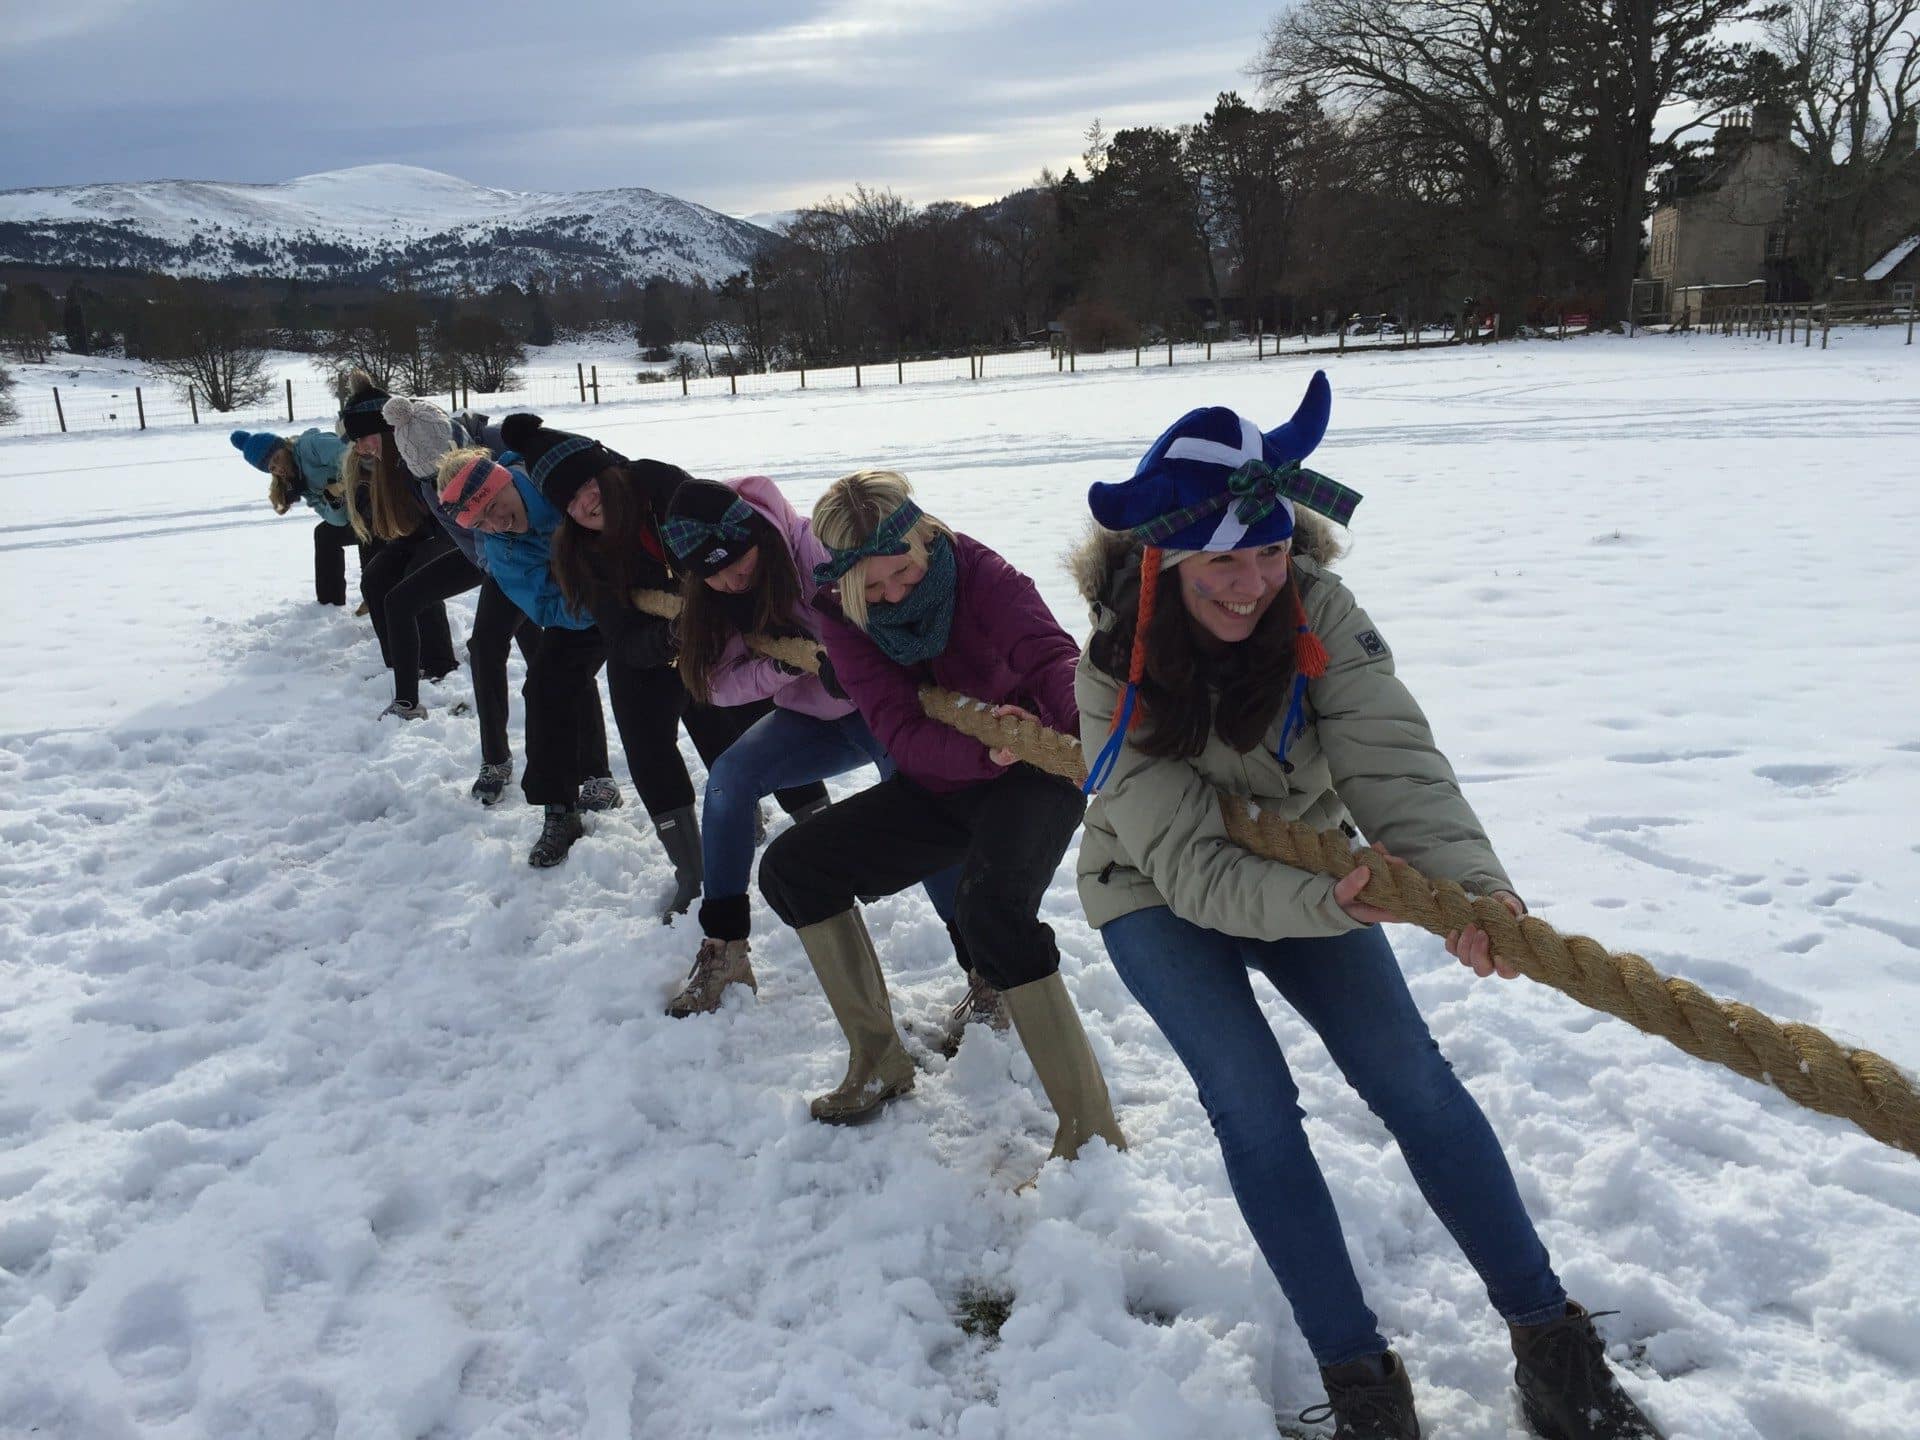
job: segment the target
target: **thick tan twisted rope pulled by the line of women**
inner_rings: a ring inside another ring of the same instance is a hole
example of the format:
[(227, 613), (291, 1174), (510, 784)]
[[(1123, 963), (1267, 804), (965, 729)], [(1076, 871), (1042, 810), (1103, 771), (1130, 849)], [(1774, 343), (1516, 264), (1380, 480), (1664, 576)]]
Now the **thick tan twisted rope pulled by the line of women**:
[[(680, 614), (680, 597), (662, 589), (636, 589), (634, 603), (647, 614)], [(797, 670), (818, 670), (820, 647), (812, 641), (747, 636), (747, 645)], [(1087, 758), (1071, 735), (1020, 716), (995, 716), (991, 705), (937, 685), (920, 687), (920, 707), (989, 749), (1012, 751), (1035, 770), (1075, 783), (1087, 778)], [(1235, 795), (1221, 795), (1219, 808), (1227, 835), (1254, 854), (1334, 879), (1367, 866), (1371, 877), (1359, 899), (1404, 924), (1432, 935), (1478, 925), (1494, 954), (1528, 979), (1659, 1035), (1697, 1060), (1770, 1085), (1807, 1110), (1851, 1119), (1882, 1144), (1920, 1156), (1920, 1091), (1885, 1056), (1849, 1050), (1826, 1031), (1776, 1021), (1740, 1000), (1718, 1000), (1692, 981), (1659, 973), (1638, 954), (1607, 950), (1586, 935), (1561, 935), (1538, 916), (1515, 920), (1500, 900), (1467, 895), (1450, 879), (1428, 879), (1411, 866), (1369, 864), (1373, 851), (1356, 851), (1338, 829), (1315, 831), (1261, 814), (1252, 801)]]

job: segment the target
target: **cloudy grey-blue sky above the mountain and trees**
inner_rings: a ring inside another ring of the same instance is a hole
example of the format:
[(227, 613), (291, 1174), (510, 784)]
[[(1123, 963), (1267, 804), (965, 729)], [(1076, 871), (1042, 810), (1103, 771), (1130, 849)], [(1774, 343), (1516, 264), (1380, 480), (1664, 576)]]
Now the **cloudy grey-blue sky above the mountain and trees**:
[[(50, 0), (0, 27), (0, 188), (397, 161), (732, 213), (991, 200), (1198, 119), (1283, 0)], [(559, 19), (563, 17), (563, 19)]]

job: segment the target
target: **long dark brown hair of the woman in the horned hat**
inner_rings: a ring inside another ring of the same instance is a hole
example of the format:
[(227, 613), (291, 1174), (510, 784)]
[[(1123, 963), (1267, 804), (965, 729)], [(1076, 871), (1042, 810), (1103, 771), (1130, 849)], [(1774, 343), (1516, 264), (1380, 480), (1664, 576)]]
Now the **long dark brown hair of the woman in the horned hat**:
[[(1194, 557), (1188, 564), (1200, 563)], [(1160, 758), (1194, 758), (1217, 733), (1235, 751), (1260, 749), (1286, 705), (1294, 678), (1294, 641), (1304, 622), (1292, 566), (1254, 634), (1235, 645), (1208, 643), (1179, 595), (1179, 578), (1162, 572), (1158, 603), (1146, 620), (1146, 670), (1140, 676), (1140, 730), (1133, 745)], [(1116, 626), (1112, 655), (1133, 649), (1135, 612)]]

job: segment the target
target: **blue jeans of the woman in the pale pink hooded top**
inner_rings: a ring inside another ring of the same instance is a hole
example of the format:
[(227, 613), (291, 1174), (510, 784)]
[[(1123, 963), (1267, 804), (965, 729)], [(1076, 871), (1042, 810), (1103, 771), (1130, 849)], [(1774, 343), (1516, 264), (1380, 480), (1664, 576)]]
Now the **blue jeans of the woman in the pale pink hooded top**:
[[(774, 708), (749, 726), (707, 770), (707, 801), (701, 810), (707, 899), (726, 900), (747, 893), (753, 833), (764, 795), (814, 780), (831, 780), (862, 764), (877, 766), (881, 780), (893, 774), (893, 760), (858, 712), (839, 720), (820, 720)], [(924, 883), (941, 920), (952, 920), (958, 883), (958, 868), (943, 870)]]

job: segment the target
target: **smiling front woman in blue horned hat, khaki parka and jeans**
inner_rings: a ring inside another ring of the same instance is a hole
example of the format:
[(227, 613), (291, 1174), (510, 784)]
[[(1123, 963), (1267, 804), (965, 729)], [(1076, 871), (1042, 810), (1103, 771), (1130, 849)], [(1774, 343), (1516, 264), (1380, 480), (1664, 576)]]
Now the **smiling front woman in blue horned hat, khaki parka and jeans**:
[[(1357, 899), (1367, 870), (1336, 883), (1227, 837), (1221, 791), (1317, 829), (1357, 824), (1377, 864), (1404, 856), (1524, 912), (1392, 651), (1325, 568), (1336, 547), (1313, 513), (1346, 524), (1359, 503), (1300, 465), (1331, 401), (1315, 374), (1294, 419), (1267, 434), (1223, 407), (1190, 411), (1131, 480), (1092, 486), (1100, 530), (1075, 572), (1094, 636), (1075, 695), (1100, 795), (1081, 902), (1194, 1077), (1240, 1213), (1321, 1365), (1336, 1436), (1417, 1440), (1419, 1421), (1348, 1260), (1256, 970), (1386, 1123), (1486, 1283), (1511, 1327), (1528, 1425), (1555, 1440), (1657, 1440), (1427, 1031), (1380, 929), (1394, 916)], [(1448, 952), (1478, 975), (1513, 973), (1473, 927)]]

